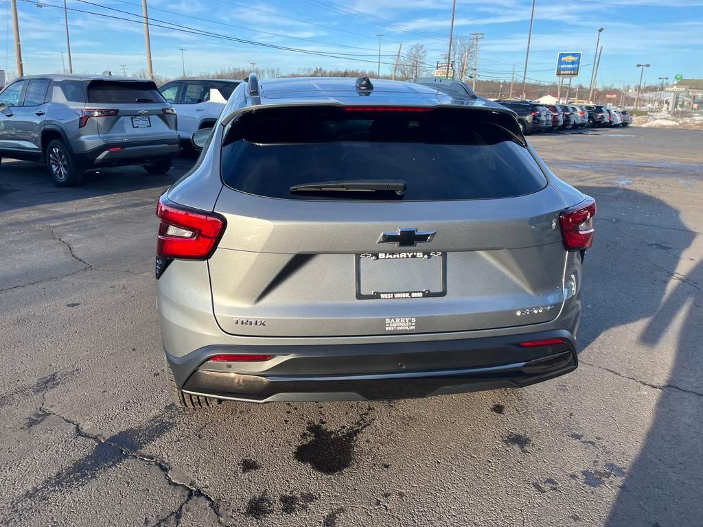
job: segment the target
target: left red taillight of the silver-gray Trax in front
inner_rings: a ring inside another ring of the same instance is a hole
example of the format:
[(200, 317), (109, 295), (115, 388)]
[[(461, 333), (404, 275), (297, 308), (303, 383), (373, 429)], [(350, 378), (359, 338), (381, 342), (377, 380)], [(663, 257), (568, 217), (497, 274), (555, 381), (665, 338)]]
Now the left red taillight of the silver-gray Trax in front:
[(208, 259), (226, 226), (219, 214), (183, 207), (164, 196), (156, 215), (161, 219), (156, 254), (162, 258)]

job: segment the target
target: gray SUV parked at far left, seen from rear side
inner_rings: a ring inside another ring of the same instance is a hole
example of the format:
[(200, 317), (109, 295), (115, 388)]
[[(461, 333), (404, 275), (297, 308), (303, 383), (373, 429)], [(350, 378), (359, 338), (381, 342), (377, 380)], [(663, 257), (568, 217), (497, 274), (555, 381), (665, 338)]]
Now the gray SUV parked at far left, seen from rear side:
[(0, 159), (46, 162), (60, 186), (98, 167), (165, 174), (178, 151), (176, 112), (150, 80), (33, 75), (0, 92)]

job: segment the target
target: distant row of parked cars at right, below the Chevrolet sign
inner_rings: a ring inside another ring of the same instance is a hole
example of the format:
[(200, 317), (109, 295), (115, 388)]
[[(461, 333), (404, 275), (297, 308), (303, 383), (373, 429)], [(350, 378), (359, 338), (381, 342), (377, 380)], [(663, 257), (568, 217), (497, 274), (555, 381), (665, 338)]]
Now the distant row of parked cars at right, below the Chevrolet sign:
[(632, 123), (632, 116), (623, 108), (588, 104), (542, 105), (531, 100), (496, 102), (517, 114), (517, 122), (523, 134), (596, 126), (629, 126)]

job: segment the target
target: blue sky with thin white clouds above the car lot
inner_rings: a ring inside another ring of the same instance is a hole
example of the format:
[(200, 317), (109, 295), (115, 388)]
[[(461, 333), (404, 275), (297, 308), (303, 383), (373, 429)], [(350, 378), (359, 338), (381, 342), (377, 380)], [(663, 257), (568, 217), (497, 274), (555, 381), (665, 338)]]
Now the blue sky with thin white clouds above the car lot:
[[(63, 71), (63, 1), (42, 4), (18, 0), (25, 74)], [(521, 77), (532, 1), (456, 4), (454, 37), (484, 33), (479, 78), (510, 79), (513, 66)], [(117, 17), (69, 11), (74, 72), (120, 74), (124, 65), (131, 74), (146, 67), (140, 0), (67, 0), (67, 5)], [(250, 68), (252, 61), (283, 73), (317, 66), (376, 70), (377, 34), (383, 34), (382, 72), (392, 70), (399, 44), (404, 52), (423, 44), (434, 64), (446, 55), (452, 1), (148, 0), (148, 5), (153, 24), (164, 26), (150, 28), (153, 70), (178, 77), (181, 48), (189, 75)], [(14, 72), (9, 0), (0, 0), (0, 13), (0, 69)], [(528, 79), (553, 82), (557, 52), (582, 51), (577, 82), (588, 84), (598, 27), (605, 28), (598, 86), (636, 85), (638, 63), (651, 64), (645, 70), (650, 84), (676, 74), (703, 78), (703, 0), (536, 0)], [(197, 34), (202, 31), (220, 37)]]

